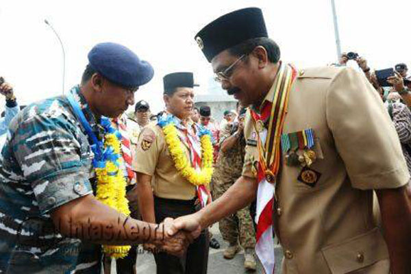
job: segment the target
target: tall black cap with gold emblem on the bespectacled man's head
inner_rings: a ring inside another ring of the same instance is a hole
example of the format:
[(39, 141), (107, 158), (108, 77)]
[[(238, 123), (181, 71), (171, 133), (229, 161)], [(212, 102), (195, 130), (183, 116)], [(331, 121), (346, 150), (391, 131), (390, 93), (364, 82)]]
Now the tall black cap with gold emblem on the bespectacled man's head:
[(245, 8), (225, 14), (203, 27), (195, 40), (208, 62), (225, 49), (252, 38), (268, 37), (262, 11)]

